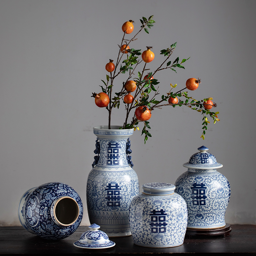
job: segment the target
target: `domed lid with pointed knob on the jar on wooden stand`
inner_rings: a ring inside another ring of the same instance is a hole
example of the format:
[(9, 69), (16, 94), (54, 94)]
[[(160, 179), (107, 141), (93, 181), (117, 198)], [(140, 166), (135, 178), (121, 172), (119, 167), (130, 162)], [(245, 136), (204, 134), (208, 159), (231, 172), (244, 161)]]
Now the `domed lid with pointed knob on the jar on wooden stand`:
[(217, 163), (215, 156), (206, 152), (209, 148), (201, 146), (197, 148), (199, 152), (192, 155), (189, 161), (183, 164), (184, 167), (190, 169), (217, 169), (222, 167), (222, 164)]

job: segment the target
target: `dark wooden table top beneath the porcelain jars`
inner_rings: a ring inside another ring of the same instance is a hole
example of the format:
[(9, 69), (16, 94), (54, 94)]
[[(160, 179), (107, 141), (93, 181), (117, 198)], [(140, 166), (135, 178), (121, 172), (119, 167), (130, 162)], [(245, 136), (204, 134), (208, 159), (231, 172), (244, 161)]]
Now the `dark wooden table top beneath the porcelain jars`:
[[(185, 238), (184, 244), (169, 248), (148, 248), (133, 244), (132, 236), (112, 237), (116, 245), (107, 249), (81, 249), (73, 245), (82, 233), (88, 230), (80, 226), (71, 236), (51, 241), (42, 239), (22, 227), (0, 227), (0, 254), (77, 254), (110, 253), (239, 253), (256, 255), (256, 225), (230, 225), (232, 231), (227, 237)], [(172, 254), (173, 255), (173, 254)]]

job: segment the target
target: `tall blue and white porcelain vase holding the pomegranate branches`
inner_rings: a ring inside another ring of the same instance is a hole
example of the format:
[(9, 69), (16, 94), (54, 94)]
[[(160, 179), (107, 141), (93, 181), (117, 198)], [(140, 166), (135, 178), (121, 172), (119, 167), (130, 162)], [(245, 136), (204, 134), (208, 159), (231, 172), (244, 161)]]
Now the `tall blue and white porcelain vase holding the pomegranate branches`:
[(129, 206), (139, 193), (139, 180), (132, 169), (129, 137), (133, 129), (96, 126), (93, 168), (87, 179), (87, 209), (90, 223), (100, 225), (109, 237), (130, 236)]

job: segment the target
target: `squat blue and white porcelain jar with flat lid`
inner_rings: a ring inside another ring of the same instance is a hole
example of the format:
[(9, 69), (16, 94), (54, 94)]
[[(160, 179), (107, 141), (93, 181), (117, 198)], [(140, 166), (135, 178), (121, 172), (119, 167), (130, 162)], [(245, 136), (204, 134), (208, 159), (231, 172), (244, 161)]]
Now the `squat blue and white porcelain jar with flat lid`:
[(185, 200), (168, 183), (147, 183), (132, 199), (130, 227), (134, 244), (174, 247), (183, 244), (188, 212)]

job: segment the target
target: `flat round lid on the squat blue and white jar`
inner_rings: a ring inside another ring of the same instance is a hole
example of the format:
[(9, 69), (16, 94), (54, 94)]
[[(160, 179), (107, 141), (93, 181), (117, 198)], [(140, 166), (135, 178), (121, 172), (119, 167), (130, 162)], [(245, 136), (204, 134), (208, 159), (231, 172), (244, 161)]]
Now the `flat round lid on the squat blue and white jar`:
[(147, 195), (164, 196), (173, 194), (175, 186), (170, 183), (152, 182), (142, 185), (142, 189)]

